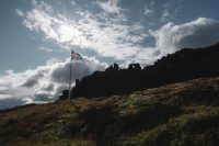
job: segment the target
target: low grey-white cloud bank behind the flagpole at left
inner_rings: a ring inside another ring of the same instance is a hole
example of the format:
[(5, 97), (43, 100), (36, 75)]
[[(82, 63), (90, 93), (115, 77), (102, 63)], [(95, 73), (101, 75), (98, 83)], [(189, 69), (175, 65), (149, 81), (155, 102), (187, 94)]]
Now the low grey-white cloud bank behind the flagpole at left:
[[(76, 79), (81, 79), (95, 70), (104, 70), (105, 66), (94, 57), (84, 56), (83, 61), (73, 61), (72, 85)], [(21, 72), (5, 71), (0, 76), (0, 109), (56, 100), (62, 90), (68, 89), (69, 67), (69, 59), (51, 59), (35, 69)]]

